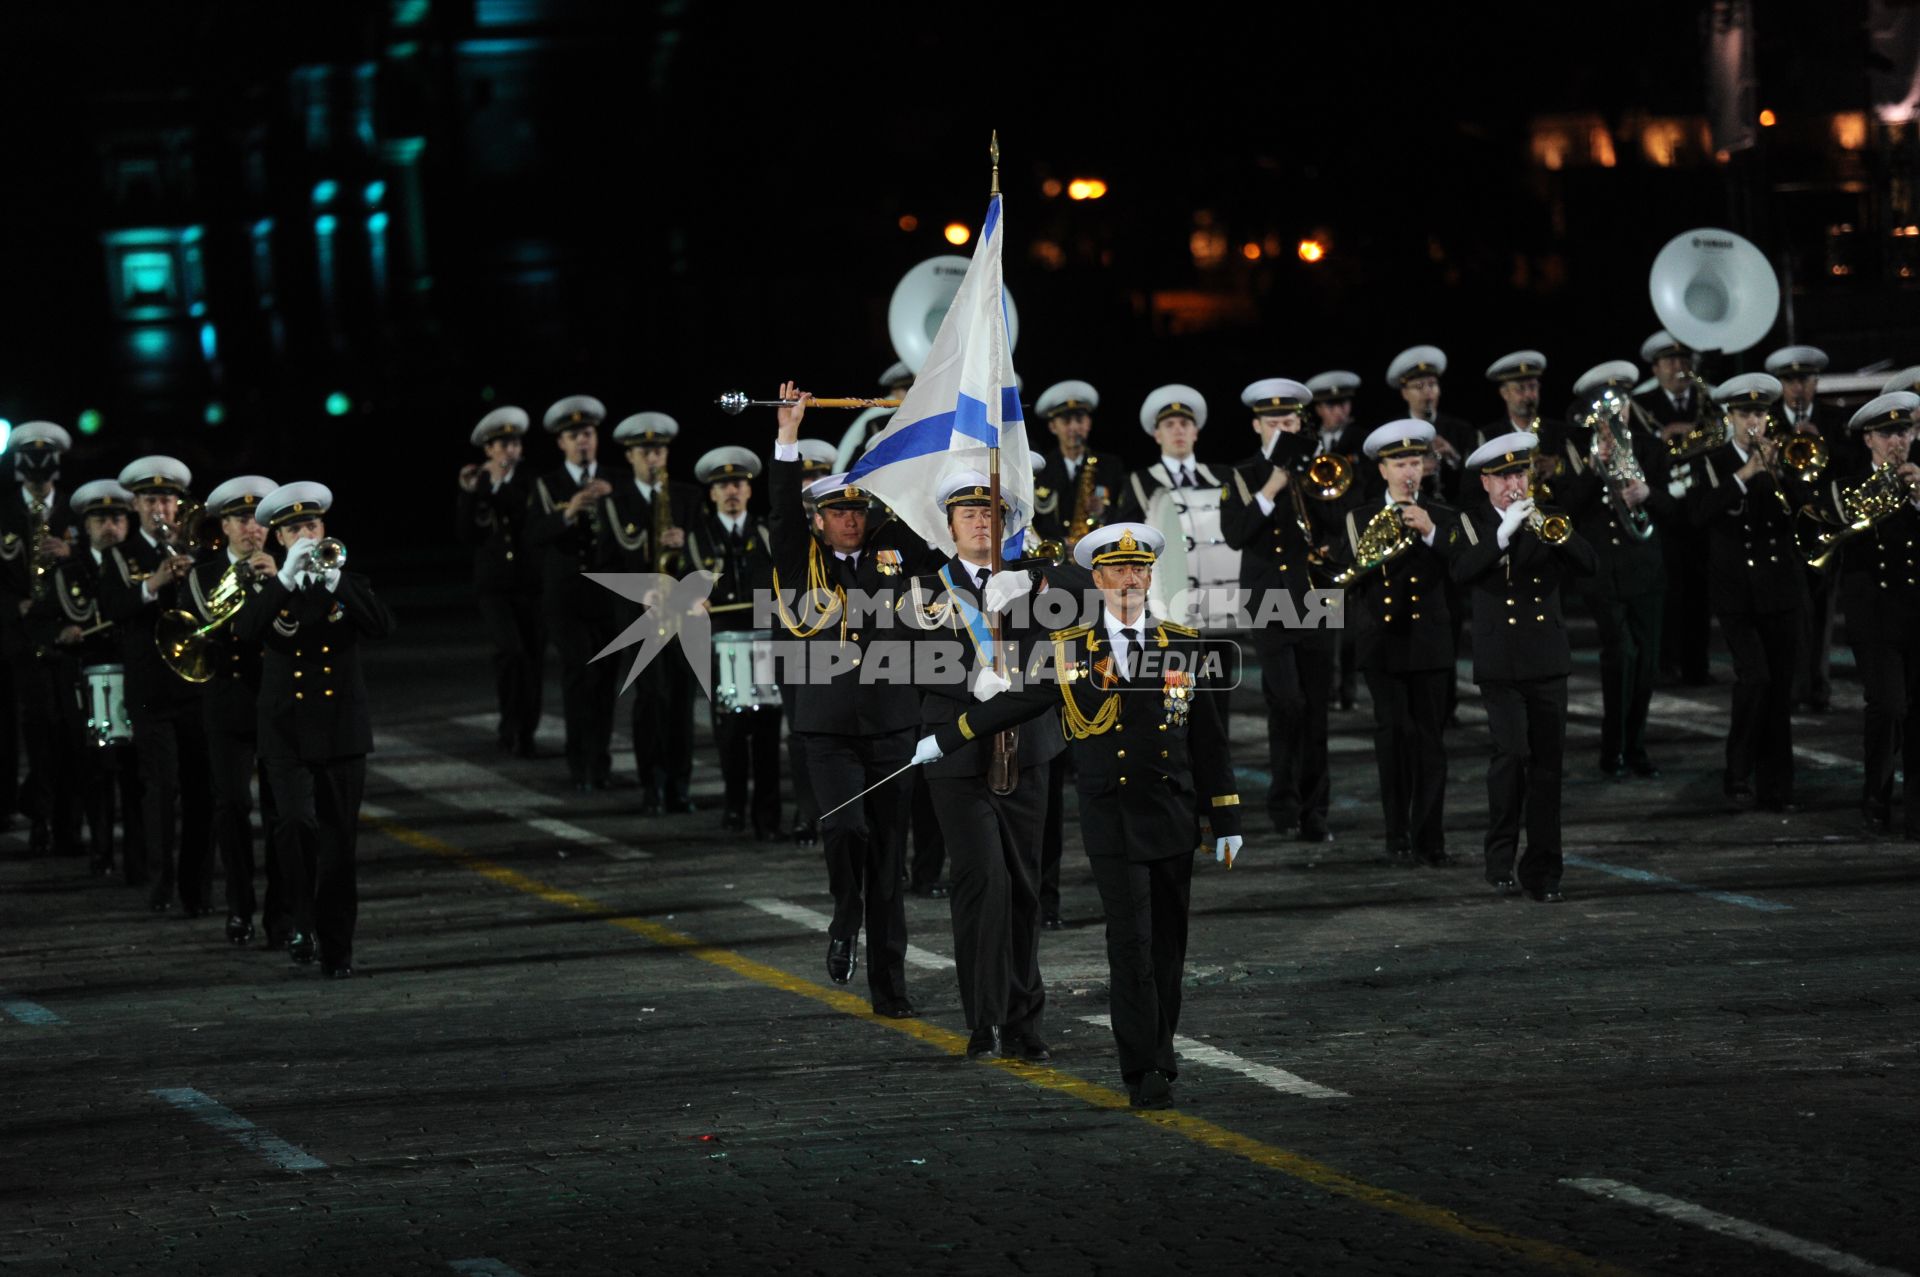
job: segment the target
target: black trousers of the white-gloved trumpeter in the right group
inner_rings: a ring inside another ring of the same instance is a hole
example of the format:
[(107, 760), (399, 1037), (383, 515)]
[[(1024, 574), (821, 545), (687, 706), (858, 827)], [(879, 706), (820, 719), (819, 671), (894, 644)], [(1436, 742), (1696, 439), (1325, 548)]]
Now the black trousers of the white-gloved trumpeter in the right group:
[[(1567, 753), (1567, 678), (1480, 684), (1494, 759), (1486, 768), (1486, 881), (1511, 878), (1528, 891), (1561, 879), (1561, 766)], [(1521, 822), (1526, 851), (1521, 851)]]

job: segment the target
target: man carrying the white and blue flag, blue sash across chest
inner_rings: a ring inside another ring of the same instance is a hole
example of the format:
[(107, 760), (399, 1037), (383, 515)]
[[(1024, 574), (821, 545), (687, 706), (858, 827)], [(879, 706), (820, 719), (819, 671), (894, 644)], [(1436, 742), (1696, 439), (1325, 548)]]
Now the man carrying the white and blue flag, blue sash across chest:
[[(977, 701), (1008, 686), (995, 672), (989, 618), (1033, 590), (1033, 576), (1025, 570), (993, 572), (987, 476), (962, 470), (948, 476), (943, 488), (954, 553), (937, 572), (916, 576), (902, 599), (902, 616), (952, 657), (945, 668), (952, 668), (954, 678), (922, 682), (924, 734), (958, 720)], [(1002, 622), (1000, 655), (1018, 672), (1043, 638), (1031, 624)], [(993, 737), (970, 741), (924, 768), (952, 864), (954, 968), (960, 1006), (972, 1029), (970, 1056), (1052, 1058), (1041, 1037), (1046, 985), (1041, 979), (1039, 879), (1046, 772), (1062, 749), (1058, 718), (1020, 728), (1010, 793), (996, 793), (989, 778)]]

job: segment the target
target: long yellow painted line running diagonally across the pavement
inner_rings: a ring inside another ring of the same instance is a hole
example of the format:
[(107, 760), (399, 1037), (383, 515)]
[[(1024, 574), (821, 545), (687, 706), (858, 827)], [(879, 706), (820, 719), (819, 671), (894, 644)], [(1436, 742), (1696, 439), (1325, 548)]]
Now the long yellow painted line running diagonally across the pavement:
[[(837, 1012), (845, 1012), (858, 1020), (868, 1020), (895, 1033), (918, 1039), (937, 1050), (950, 1056), (966, 1054), (966, 1035), (954, 1033), (952, 1029), (943, 1029), (937, 1024), (925, 1020), (891, 1020), (887, 1016), (874, 1014), (872, 1006), (864, 997), (847, 993), (843, 989), (833, 989), (828, 985), (814, 983), (783, 972), (778, 966), (768, 966), (745, 954), (733, 952), (732, 949), (720, 949), (718, 945), (707, 945), (684, 931), (664, 928), (659, 922), (647, 922), (645, 918), (634, 918), (630, 914), (620, 914), (618, 910), (595, 901), (593, 897), (580, 895), (576, 891), (563, 891), (549, 883), (530, 878), (518, 870), (507, 868), (484, 856), (476, 856), (470, 851), (445, 843), (430, 833), (420, 833), (403, 824), (388, 818), (369, 818), (363, 816), (365, 824), (372, 826), (386, 837), (397, 843), (405, 843), (417, 851), (426, 851), (438, 856), (453, 860), (465, 870), (470, 870), (501, 887), (520, 891), (524, 895), (545, 901), (547, 904), (559, 908), (570, 908), (582, 914), (591, 914), (609, 926), (620, 928), (630, 935), (637, 935), (645, 941), (659, 945), (660, 949), (674, 949), (685, 952), (689, 958), (699, 958), (722, 970), (733, 972), (741, 979), (749, 979), (756, 985), (768, 989), (780, 989), (781, 993), (791, 993), (795, 997), (812, 999), (831, 1006)], [(1526, 1260), (1530, 1264), (1540, 1264), (1542, 1267), (1551, 1267), (1565, 1273), (1594, 1273), (1599, 1275), (1624, 1275), (1630, 1269), (1619, 1267), (1615, 1264), (1605, 1264), (1592, 1256), (1580, 1254), (1557, 1242), (1542, 1241), (1536, 1237), (1526, 1237), (1523, 1233), (1507, 1231), (1496, 1223), (1486, 1223), (1482, 1219), (1473, 1219), (1461, 1216), (1446, 1206), (1434, 1206), (1417, 1196), (1398, 1193), (1394, 1189), (1382, 1189), (1379, 1185), (1367, 1183), (1348, 1175), (1342, 1169), (1327, 1166), (1325, 1162), (1315, 1162), (1298, 1152), (1267, 1144), (1250, 1135), (1227, 1129), (1206, 1118), (1196, 1118), (1192, 1114), (1183, 1114), (1177, 1108), (1131, 1108), (1125, 1091), (1116, 1091), (1114, 1087), (1102, 1087), (1098, 1083), (1087, 1081), (1073, 1073), (1066, 1073), (1056, 1068), (1020, 1064), (1014, 1060), (983, 1060), (991, 1068), (998, 1068), (1014, 1077), (1041, 1087), (1044, 1091), (1054, 1091), (1058, 1095), (1071, 1096), (1092, 1108), (1110, 1108), (1123, 1112), (1127, 1116), (1139, 1118), (1150, 1125), (1156, 1125), (1173, 1135), (1181, 1135), (1204, 1148), (1213, 1148), (1215, 1152), (1225, 1152), (1256, 1166), (1279, 1171), (1302, 1183), (1309, 1183), (1315, 1189), (1344, 1196), (1377, 1210), (1384, 1210), (1402, 1219), (1448, 1233), (1461, 1241), (1471, 1241), (1492, 1250), (1501, 1250), (1515, 1258)]]

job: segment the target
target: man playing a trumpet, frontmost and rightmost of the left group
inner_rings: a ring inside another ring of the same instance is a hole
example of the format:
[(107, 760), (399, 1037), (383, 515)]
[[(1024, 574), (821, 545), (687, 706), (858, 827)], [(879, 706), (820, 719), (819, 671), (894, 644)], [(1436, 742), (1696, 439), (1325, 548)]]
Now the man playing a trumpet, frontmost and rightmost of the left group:
[(261, 643), (259, 757), (278, 808), (280, 879), (292, 901), (286, 952), (321, 960), (321, 976), (353, 974), (359, 918), (355, 845), (372, 753), (361, 643), (394, 632), (394, 614), (359, 572), (323, 553), (334, 495), (324, 484), (275, 488), (255, 507), (286, 551), (232, 620), (234, 638)]

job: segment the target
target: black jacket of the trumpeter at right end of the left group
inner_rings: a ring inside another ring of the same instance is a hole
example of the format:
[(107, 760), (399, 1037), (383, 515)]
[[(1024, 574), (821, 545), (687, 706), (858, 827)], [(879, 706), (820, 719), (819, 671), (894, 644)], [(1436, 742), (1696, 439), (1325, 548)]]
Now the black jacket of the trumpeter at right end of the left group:
[(234, 638), (261, 643), (259, 757), (324, 762), (372, 753), (359, 645), (394, 632), (372, 586), (342, 572), (338, 590), (288, 590), (269, 576), (232, 618)]

